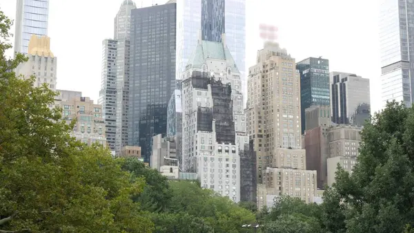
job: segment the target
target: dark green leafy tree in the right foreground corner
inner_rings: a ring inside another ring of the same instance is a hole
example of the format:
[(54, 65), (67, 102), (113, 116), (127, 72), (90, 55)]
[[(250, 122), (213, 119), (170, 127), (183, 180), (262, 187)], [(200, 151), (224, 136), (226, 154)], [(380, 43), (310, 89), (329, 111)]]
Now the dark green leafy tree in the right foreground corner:
[(353, 174), (339, 170), (335, 191), (324, 197), (336, 209), (331, 218), (326, 212), (325, 225), (332, 232), (344, 225), (349, 233), (404, 232), (414, 222), (414, 109), (389, 102), (361, 136)]

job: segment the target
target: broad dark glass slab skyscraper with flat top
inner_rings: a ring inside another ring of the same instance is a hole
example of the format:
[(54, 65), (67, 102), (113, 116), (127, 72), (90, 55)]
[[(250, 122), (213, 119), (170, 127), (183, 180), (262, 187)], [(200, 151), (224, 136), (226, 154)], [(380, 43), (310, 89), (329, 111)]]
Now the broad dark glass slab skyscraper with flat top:
[(152, 136), (166, 135), (168, 100), (175, 89), (176, 8), (169, 1), (131, 12), (128, 145), (139, 145), (145, 162)]

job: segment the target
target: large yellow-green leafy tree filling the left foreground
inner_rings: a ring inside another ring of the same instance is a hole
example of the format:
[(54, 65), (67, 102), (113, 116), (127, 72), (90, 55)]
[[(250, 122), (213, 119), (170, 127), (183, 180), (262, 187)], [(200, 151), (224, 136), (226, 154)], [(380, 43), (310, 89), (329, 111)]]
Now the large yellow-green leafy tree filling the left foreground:
[(6, 57), (12, 21), (0, 11), (0, 233), (145, 232), (154, 225), (132, 201), (145, 181), (101, 146), (70, 137), (55, 95)]

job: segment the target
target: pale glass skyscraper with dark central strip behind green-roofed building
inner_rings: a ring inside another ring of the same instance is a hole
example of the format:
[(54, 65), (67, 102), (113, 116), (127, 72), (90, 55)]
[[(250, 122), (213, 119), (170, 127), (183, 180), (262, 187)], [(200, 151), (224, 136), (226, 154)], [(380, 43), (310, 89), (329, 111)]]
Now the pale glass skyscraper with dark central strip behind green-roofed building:
[(177, 1), (177, 79), (183, 79), (200, 33), (202, 39), (216, 42), (226, 33), (226, 45), (239, 68), (246, 95), (246, 0)]

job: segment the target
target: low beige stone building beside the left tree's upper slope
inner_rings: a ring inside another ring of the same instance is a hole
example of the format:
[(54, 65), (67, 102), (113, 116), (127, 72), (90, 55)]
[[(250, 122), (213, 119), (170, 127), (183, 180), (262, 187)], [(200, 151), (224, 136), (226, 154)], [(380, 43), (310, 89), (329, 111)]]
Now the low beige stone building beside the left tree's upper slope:
[(102, 118), (102, 106), (94, 104), (89, 97), (73, 97), (70, 100), (57, 101), (62, 109), (62, 120), (68, 124), (77, 120), (72, 136), (92, 145), (94, 142), (106, 146), (105, 123)]

